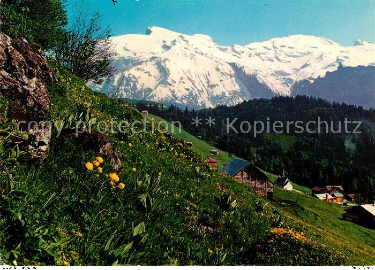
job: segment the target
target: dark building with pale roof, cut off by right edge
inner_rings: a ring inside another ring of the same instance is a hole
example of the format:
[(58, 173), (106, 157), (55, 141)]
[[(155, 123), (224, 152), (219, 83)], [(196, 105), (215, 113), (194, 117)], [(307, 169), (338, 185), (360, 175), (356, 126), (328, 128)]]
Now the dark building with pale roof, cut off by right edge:
[(345, 211), (342, 215), (345, 220), (375, 230), (375, 202), (354, 206)]

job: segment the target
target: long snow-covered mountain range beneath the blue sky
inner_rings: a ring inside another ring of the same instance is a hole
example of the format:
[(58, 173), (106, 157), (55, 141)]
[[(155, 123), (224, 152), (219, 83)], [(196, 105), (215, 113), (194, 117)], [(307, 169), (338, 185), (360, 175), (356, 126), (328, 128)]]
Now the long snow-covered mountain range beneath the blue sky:
[(115, 76), (91, 87), (109, 93), (120, 85), (122, 97), (193, 107), (291, 95), (297, 82), (312, 83), (339, 64), (375, 66), (375, 45), (364, 40), (343, 47), (323, 37), (293, 35), (219, 46), (202, 34), (149, 27), (144, 35), (115, 36), (110, 42)]

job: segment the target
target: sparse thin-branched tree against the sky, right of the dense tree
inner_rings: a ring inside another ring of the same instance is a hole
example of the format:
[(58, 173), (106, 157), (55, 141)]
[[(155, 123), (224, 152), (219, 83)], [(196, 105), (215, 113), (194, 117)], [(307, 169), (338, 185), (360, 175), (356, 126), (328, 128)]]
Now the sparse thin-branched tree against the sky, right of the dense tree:
[(85, 82), (101, 84), (113, 75), (111, 67), (110, 28), (100, 24), (102, 16), (96, 12), (87, 19), (81, 12), (71, 22), (66, 40), (55, 51), (56, 60)]

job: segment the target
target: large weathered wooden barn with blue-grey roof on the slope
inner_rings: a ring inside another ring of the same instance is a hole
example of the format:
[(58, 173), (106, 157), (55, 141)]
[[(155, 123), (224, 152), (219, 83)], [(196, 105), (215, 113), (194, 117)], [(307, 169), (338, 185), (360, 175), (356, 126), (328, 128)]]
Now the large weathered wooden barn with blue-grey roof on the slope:
[(256, 194), (266, 198), (273, 197), (273, 183), (253, 163), (234, 158), (225, 164), (221, 171), (232, 176), (237, 182), (250, 186)]

